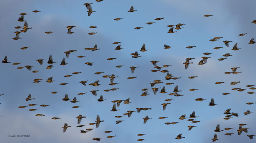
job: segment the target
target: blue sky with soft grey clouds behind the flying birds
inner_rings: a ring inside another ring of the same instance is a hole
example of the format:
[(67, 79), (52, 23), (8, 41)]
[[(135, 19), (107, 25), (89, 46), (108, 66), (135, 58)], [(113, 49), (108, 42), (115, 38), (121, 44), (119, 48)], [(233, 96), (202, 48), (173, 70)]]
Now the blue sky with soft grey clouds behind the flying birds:
[[(88, 16), (87, 8), (84, 3), (93, 3), (92, 10), (96, 11)], [(133, 13), (128, 13), (130, 6), (134, 6)], [(256, 1), (253, 0), (104, 0), (102, 2), (89, 1), (51, 1), (51, 0), (2, 0), (0, 5), (0, 57), (2, 60), (5, 55), (8, 61), (12, 63), (22, 62), (19, 65), (0, 64), (0, 142), (12, 143), (32, 143), (32, 142), (62, 142), (86, 141), (88, 143), (97, 142), (92, 138), (102, 138), (102, 143), (136, 142), (139, 138), (144, 138), (142, 142), (155, 143), (161, 142), (179, 142), (187, 143), (211, 142), (216, 125), (220, 124), (220, 129), (233, 127), (231, 130), (217, 133), (220, 143), (233, 143), (246, 141), (246, 143), (255, 142), (255, 137), (250, 140), (247, 134), (256, 135), (256, 124), (254, 119), (256, 114), (243, 115), (243, 112), (250, 110), (255, 112), (255, 104), (248, 105), (248, 102), (256, 102), (255, 94), (246, 85), (254, 85), (256, 44), (249, 45), (249, 40), (255, 37), (256, 24), (251, 23), (256, 19), (254, 13)], [(33, 10), (41, 12), (32, 13)], [(20, 33), (21, 40), (13, 40), (16, 26), (23, 26), (24, 22), (18, 22), (20, 13), (29, 13), (24, 16), (28, 22), (28, 27), (32, 27), (26, 33)], [(210, 14), (211, 17), (203, 15)], [(155, 18), (163, 18), (155, 21)], [(115, 18), (124, 18), (120, 21), (114, 21)], [(147, 25), (147, 22), (156, 22)], [(178, 23), (186, 24), (183, 29), (176, 30), (176, 33), (169, 34), (170, 27), (167, 25), (176, 25)], [(76, 26), (72, 29), (76, 33), (67, 34), (66, 26)], [(98, 26), (95, 29), (89, 26)], [(144, 27), (135, 30), (134, 27)], [(55, 31), (52, 34), (45, 34), (46, 31)], [(97, 32), (94, 35), (88, 35), (89, 32)], [(247, 33), (244, 36), (238, 34)], [(219, 41), (210, 42), (213, 37), (223, 37)], [(222, 42), (230, 40), (230, 47), (227, 48)], [(113, 42), (122, 42), (122, 50), (114, 50), (117, 45)], [(238, 43), (238, 51), (231, 48)], [(149, 51), (140, 52), (143, 43)], [(97, 44), (100, 50), (88, 51), (86, 47), (94, 47)], [(164, 49), (164, 44), (172, 46), (170, 49)], [(196, 46), (187, 49), (188, 46)], [(21, 47), (29, 47), (21, 50)], [(223, 47), (219, 50), (214, 47)], [(64, 51), (77, 50), (66, 58)], [(139, 51), (139, 58), (131, 58), (130, 53)], [(213, 53), (204, 65), (198, 65), (203, 53)], [(225, 58), (222, 55), (231, 53), (224, 61), (218, 61), (219, 58)], [(45, 69), (49, 55), (53, 56), (52, 69)], [(77, 58), (84, 55), (84, 58)], [(66, 58), (65, 66), (59, 65), (63, 58)], [(107, 58), (117, 58), (112, 61)], [(184, 69), (185, 58), (195, 58), (191, 60), (188, 69)], [(45, 59), (43, 65), (40, 65), (36, 59)], [(165, 64), (172, 65), (167, 68), (174, 77), (181, 77), (177, 80), (163, 80), (164, 83), (156, 84), (154, 87), (165, 86), (165, 94), (157, 92), (154, 95), (150, 87), (150, 82), (155, 79), (164, 79), (166, 73), (151, 72), (155, 69), (150, 61), (160, 61), (157, 66)], [(93, 66), (84, 63), (94, 62)], [(31, 71), (26, 68), (17, 69), (19, 66), (33, 66)], [(125, 65), (117, 68), (117, 65)], [(130, 66), (139, 66), (131, 74)], [(237, 71), (239, 74), (224, 74), (231, 72), (231, 67), (241, 67)], [(64, 77), (73, 72), (82, 72), (71, 77)], [(96, 75), (95, 72), (104, 72)], [(104, 75), (115, 74), (119, 76), (114, 80), (116, 85), (109, 85), (109, 78), (102, 78)], [(45, 82), (53, 76), (55, 82)], [(127, 77), (137, 77), (127, 79)], [(190, 76), (198, 76), (194, 79), (188, 79)], [(43, 79), (42, 82), (35, 84), (33, 79)], [(88, 80), (86, 86), (80, 84), (81, 80)], [(89, 83), (100, 80), (98, 87), (93, 87)], [(240, 81), (239, 84), (230, 85), (230, 82)], [(165, 85), (171, 82), (174, 84)], [(216, 85), (215, 82), (225, 82)], [(69, 83), (67, 85), (59, 85)], [(178, 85), (179, 94), (184, 96), (170, 96), (174, 87)], [(244, 88), (243, 92), (231, 90), (232, 88)], [(120, 88), (116, 91), (104, 92), (105, 89)], [(140, 96), (143, 88), (150, 88), (148, 96)], [(199, 90), (189, 91), (191, 88)], [(97, 96), (93, 96), (91, 90), (99, 90)], [(51, 92), (58, 92), (52, 94)], [(84, 95), (77, 95), (81, 92), (87, 92)], [(222, 93), (231, 93), (222, 95)], [(28, 94), (35, 100), (25, 101)], [(65, 94), (69, 98), (75, 96), (78, 103), (62, 101)], [(100, 95), (103, 95), (103, 102), (97, 102)], [(196, 98), (204, 98), (204, 101), (195, 101)], [(120, 111), (111, 112), (112, 100), (126, 100), (130, 98), (132, 103), (121, 103)], [(208, 106), (210, 99), (214, 98), (216, 106)], [(162, 110), (162, 103), (165, 99), (173, 99), (171, 104), (167, 105), (165, 111)], [(28, 106), (28, 104), (38, 104), (24, 109), (18, 106)], [(40, 104), (50, 105), (41, 107)], [(81, 106), (74, 109), (72, 106)], [(36, 111), (28, 111), (35, 108)], [(129, 110), (136, 108), (152, 108), (152, 110), (134, 112), (132, 116), (116, 118), (123, 116)], [(239, 113), (239, 117), (224, 120), (226, 109), (231, 108), (231, 112)], [(196, 112), (199, 116), (198, 123), (191, 123), (178, 118), (183, 114)], [(45, 116), (37, 117), (36, 114)], [(82, 128), (77, 128), (76, 116), (82, 114), (86, 116), (82, 119)], [(99, 128), (89, 123), (96, 121), (96, 115), (99, 114), (101, 122)], [(142, 118), (149, 116), (150, 119), (143, 124)], [(158, 117), (168, 117), (158, 119)], [(52, 117), (61, 117), (62, 119), (53, 120)], [(116, 125), (117, 120), (124, 122)], [(175, 125), (165, 125), (166, 122), (180, 122)], [(64, 123), (71, 125), (63, 133)], [(248, 133), (237, 135), (238, 124), (247, 124), (244, 128), (249, 128)], [(188, 131), (188, 125), (196, 125)], [(80, 129), (94, 130), (87, 133), (80, 133)], [(104, 133), (110, 130), (111, 133)], [(139, 133), (146, 133), (142, 137)], [(185, 137), (182, 140), (176, 140), (175, 137), (182, 133)], [(225, 133), (235, 133), (232, 136)], [(30, 138), (12, 138), (8, 135), (30, 135)], [(117, 137), (106, 138), (109, 135)]]

